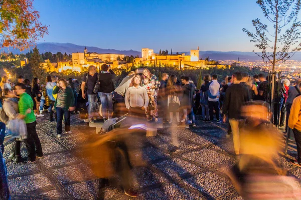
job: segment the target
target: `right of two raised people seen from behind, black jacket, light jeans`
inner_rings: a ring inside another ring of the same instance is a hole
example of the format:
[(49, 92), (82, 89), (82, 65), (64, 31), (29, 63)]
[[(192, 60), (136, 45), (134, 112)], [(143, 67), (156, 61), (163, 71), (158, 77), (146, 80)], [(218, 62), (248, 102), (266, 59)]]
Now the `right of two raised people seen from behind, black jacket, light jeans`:
[(99, 81), (99, 98), (101, 101), (101, 112), (104, 119), (112, 117), (113, 113), (113, 91), (115, 89), (113, 78), (114, 71), (107, 64), (101, 65), (101, 70), (98, 74)]

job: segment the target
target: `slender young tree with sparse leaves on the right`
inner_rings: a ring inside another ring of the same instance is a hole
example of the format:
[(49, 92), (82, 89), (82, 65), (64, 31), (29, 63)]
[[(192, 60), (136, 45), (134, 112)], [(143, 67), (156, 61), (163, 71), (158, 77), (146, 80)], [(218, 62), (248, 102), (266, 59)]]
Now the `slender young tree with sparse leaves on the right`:
[(257, 0), (256, 3), (269, 24), (256, 18), (252, 20), (255, 33), (246, 28), (242, 30), (251, 37), (250, 41), (255, 43), (254, 46), (261, 50), (256, 54), (272, 65), (271, 110), (273, 110), (275, 64), (291, 58), (296, 51), (301, 50), (301, 22), (298, 20), (301, 0)]

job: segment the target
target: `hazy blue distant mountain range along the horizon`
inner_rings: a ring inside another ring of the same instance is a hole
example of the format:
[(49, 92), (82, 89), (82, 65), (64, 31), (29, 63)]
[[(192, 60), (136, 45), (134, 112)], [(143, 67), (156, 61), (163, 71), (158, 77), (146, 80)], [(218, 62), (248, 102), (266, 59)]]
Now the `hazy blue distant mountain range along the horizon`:
[[(76, 45), (73, 43), (56, 43), (56, 42), (38, 42), (37, 47), (40, 53), (50, 51), (52, 53), (67, 53), (71, 54), (72, 52), (84, 52), (85, 46)], [(136, 50), (116, 50), (116, 49), (104, 49), (98, 48), (95, 46), (86, 46), (89, 52), (98, 52), (98, 53), (120, 53), (125, 55), (139, 55), (141, 56), (140, 51)], [(33, 47), (32, 47), (33, 48)], [(20, 53), (20, 50), (10, 48), (10, 51), (13, 53)], [(23, 53), (28, 52), (29, 49), (22, 51)], [(183, 51), (184, 52), (184, 51)], [(182, 52), (180, 52), (182, 53)], [(190, 51), (184, 52), (185, 54), (190, 54)], [(212, 60), (238, 60), (238, 58), (243, 60), (255, 61), (260, 60), (260, 57), (254, 52), (242, 52), (242, 51), (200, 51), (200, 59), (205, 59), (208, 57)], [(294, 60), (301, 60), (301, 52), (295, 53), (291, 58)]]

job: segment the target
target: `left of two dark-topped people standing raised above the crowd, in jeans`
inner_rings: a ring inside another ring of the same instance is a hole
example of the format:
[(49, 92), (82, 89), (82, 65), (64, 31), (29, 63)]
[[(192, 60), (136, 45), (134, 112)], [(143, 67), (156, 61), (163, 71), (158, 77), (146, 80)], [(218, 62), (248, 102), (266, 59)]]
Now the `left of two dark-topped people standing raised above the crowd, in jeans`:
[(97, 93), (93, 92), (94, 86), (97, 82), (98, 73), (96, 72), (96, 67), (90, 65), (88, 68), (88, 73), (84, 74), (83, 81), (81, 84), (82, 97), (85, 99), (88, 98), (89, 106), (89, 121), (94, 122), (94, 117), (97, 115)]

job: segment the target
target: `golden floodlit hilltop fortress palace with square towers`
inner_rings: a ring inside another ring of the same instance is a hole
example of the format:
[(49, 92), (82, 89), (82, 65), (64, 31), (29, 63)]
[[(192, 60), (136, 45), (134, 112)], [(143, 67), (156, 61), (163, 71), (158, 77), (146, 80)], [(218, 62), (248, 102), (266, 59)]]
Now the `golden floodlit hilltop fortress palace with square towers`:
[[(119, 60), (117, 60), (118, 57), (120, 57)], [(190, 55), (185, 55), (185, 53), (159, 55), (154, 53), (154, 49), (142, 48), (141, 57), (134, 58), (132, 63), (120, 61), (124, 57), (124, 54), (88, 52), (88, 49), (85, 47), (84, 52), (72, 53), (72, 60), (51, 63), (51, 67), (48, 67), (50, 61), (45, 60), (43, 65), (48, 71), (57, 72), (62, 72), (63, 70), (68, 69), (81, 72), (83, 71), (83, 67), (88, 67), (90, 65), (94, 65), (99, 69), (103, 63), (109, 64), (112, 68), (127, 68), (133, 65), (174, 66), (179, 69), (181, 67), (203, 68), (207, 66), (205, 65), (204, 59), (199, 59), (199, 49), (190, 50)]]

